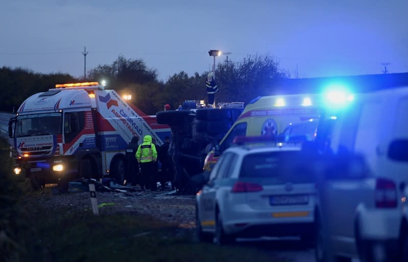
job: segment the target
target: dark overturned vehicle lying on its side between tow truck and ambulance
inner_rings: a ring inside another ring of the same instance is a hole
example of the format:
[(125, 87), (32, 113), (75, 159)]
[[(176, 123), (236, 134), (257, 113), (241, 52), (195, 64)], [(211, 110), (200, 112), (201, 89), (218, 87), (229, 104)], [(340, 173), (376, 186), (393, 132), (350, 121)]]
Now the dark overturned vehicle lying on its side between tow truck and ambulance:
[(175, 186), (180, 194), (197, 192), (191, 178), (203, 173), (204, 160), (244, 110), (244, 103), (219, 103), (218, 108), (201, 107), (195, 101), (183, 109), (160, 111), (157, 123), (171, 127), (169, 157), (174, 163)]

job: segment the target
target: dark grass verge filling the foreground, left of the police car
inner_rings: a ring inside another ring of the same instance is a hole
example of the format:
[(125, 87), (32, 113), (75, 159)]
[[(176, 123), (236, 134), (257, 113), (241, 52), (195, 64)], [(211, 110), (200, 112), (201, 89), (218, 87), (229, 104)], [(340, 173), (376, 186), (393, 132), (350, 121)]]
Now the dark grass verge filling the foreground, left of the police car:
[(38, 192), (21, 189), (29, 183), (13, 176), (8, 153), (0, 138), (0, 261), (274, 261), (253, 247), (195, 242), (193, 230), (139, 213), (97, 217), (89, 209), (27, 204)]

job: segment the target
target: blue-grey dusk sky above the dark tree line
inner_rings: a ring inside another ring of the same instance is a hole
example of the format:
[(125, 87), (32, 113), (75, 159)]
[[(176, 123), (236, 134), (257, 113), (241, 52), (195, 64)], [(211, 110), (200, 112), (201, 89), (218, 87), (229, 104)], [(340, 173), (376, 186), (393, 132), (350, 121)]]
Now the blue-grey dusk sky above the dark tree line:
[(408, 72), (407, 17), (406, 0), (2, 0), (0, 66), (81, 77), (86, 46), (87, 70), (120, 54), (164, 81), (208, 70), (209, 49), (306, 77)]

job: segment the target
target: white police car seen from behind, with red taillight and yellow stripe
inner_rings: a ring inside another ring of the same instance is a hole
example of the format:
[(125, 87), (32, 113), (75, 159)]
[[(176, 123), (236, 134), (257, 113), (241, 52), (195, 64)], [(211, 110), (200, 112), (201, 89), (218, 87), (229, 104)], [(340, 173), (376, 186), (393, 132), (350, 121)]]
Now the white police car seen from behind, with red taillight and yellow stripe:
[(200, 241), (313, 237), (315, 183), (310, 155), (295, 146), (232, 147), (196, 196)]

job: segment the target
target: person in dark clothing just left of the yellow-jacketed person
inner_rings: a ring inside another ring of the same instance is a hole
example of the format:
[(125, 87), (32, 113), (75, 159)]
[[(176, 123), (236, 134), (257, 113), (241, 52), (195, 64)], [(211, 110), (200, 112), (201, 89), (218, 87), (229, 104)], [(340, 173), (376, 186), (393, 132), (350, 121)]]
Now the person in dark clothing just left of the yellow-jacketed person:
[(139, 137), (133, 136), (132, 140), (126, 147), (126, 183), (136, 185), (139, 181), (139, 162), (135, 157), (138, 148), (137, 142)]

